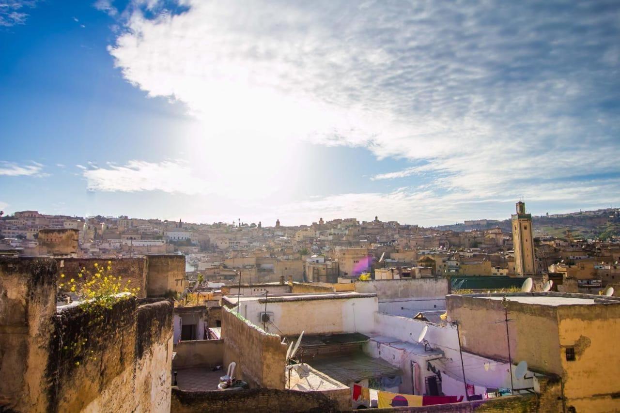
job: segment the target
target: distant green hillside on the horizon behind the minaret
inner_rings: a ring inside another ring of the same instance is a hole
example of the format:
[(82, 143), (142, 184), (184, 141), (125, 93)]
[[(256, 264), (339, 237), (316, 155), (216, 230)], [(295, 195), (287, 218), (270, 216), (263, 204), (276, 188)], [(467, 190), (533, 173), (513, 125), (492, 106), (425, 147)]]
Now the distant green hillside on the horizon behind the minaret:
[[(483, 221), (483, 220), (479, 220)], [(490, 220), (492, 221), (492, 220)], [(596, 211), (579, 211), (567, 214), (533, 216), (534, 236), (555, 238), (608, 239), (620, 236), (620, 208)], [(433, 227), (441, 231), (471, 231), (472, 229), (502, 228), (510, 233), (510, 219), (485, 224), (453, 224)], [(570, 231), (570, 233), (568, 232)]]

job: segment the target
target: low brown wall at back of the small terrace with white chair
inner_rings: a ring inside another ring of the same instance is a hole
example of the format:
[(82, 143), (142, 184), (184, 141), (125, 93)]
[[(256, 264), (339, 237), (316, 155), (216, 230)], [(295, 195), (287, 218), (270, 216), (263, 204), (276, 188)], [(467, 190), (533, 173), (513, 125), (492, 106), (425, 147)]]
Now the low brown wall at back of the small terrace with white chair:
[(174, 345), (177, 355), (172, 368), (213, 367), (223, 365), (224, 340), (182, 341)]

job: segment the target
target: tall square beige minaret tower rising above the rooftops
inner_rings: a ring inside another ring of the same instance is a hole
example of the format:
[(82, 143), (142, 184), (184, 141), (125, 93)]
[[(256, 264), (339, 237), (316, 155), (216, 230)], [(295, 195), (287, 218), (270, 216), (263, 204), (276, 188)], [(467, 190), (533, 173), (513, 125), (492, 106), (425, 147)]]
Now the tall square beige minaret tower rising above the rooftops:
[(516, 275), (526, 277), (536, 273), (534, 264), (534, 239), (532, 215), (525, 212), (525, 203), (516, 203), (516, 214), (512, 216), (512, 242), (515, 248)]

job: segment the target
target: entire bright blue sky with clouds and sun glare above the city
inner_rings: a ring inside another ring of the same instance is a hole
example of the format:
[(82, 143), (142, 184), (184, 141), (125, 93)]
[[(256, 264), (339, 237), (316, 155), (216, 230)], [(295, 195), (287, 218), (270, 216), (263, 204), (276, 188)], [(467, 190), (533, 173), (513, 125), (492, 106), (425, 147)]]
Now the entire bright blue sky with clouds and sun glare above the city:
[(618, 1), (0, 0), (0, 209), (619, 207), (619, 68)]

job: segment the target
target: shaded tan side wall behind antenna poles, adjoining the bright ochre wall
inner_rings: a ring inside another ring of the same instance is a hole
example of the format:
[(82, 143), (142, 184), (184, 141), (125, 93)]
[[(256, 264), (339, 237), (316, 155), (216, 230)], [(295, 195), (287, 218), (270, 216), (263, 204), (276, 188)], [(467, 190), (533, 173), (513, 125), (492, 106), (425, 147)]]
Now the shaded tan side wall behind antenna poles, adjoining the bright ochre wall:
[[(451, 321), (459, 322), (463, 350), (508, 360), (501, 300), (449, 295), (446, 308)], [(556, 308), (512, 301), (508, 302), (508, 319), (512, 360), (527, 360), (533, 370), (561, 375)]]

